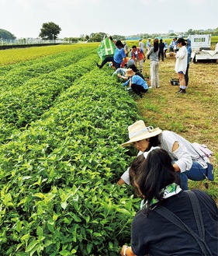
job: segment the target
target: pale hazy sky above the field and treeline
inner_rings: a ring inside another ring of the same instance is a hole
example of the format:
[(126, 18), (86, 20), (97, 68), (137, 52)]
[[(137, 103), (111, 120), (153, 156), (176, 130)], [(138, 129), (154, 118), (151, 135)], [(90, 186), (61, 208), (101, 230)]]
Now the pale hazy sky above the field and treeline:
[(218, 0), (0, 0), (0, 6), (0, 29), (17, 38), (36, 38), (49, 22), (61, 27), (59, 38), (218, 27)]

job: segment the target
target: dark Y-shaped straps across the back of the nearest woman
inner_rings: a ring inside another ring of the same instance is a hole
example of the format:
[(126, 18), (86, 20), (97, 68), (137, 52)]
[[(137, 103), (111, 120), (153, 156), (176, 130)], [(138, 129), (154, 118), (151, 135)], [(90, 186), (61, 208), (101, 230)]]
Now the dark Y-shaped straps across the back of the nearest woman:
[(213, 256), (211, 254), (211, 251), (209, 250), (209, 247), (206, 244), (205, 240), (205, 230), (202, 222), (202, 214), (200, 212), (199, 208), (199, 201), (196, 197), (195, 193), (192, 191), (185, 191), (188, 193), (189, 198), (192, 203), (192, 209), (195, 215), (196, 224), (198, 227), (199, 235), (196, 234), (189, 226), (187, 226), (185, 223), (183, 223), (182, 219), (178, 218), (178, 216), (175, 215), (175, 213), (171, 212), (167, 208), (165, 208), (163, 205), (158, 205), (154, 211), (159, 213), (161, 216), (163, 216), (165, 219), (168, 219), (171, 223), (174, 223), (176, 226), (181, 228), (187, 233), (190, 233), (192, 237), (195, 238), (196, 242), (199, 244), (199, 247), (201, 248), (202, 255), (205, 256)]

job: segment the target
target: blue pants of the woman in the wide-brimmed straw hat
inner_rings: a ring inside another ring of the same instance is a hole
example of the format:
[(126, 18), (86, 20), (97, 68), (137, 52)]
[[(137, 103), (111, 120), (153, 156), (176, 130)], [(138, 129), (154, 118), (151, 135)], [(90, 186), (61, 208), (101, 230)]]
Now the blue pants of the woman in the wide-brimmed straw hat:
[(204, 169), (198, 162), (193, 162), (190, 170), (178, 174), (182, 190), (188, 190), (188, 179), (192, 181), (203, 181), (205, 179), (206, 169)]

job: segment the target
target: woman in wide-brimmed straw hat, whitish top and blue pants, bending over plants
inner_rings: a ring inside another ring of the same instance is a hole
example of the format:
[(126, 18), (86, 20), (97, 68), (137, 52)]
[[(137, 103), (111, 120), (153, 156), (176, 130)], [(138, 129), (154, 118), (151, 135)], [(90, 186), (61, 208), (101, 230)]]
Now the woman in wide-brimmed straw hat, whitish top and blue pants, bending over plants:
[[(140, 154), (148, 152), (151, 147), (160, 146), (171, 156), (172, 166), (178, 172), (183, 190), (188, 189), (188, 179), (202, 181), (206, 178), (209, 159), (198, 148), (175, 132), (162, 131), (160, 128), (146, 127), (140, 120), (128, 127), (128, 142), (121, 146), (133, 144)], [(119, 185), (130, 184), (129, 169), (120, 177)]]

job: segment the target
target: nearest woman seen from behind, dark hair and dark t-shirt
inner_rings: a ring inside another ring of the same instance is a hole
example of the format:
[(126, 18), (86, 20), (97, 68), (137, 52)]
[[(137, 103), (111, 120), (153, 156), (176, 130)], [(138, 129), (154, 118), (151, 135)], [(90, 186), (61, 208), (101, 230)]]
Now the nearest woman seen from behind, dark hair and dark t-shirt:
[[(130, 165), (130, 175), (137, 195), (143, 198), (140, 211), (132, 223), (131, 246), (123, 245), (120, 254), (135, 255), (217, 255), (218, 230), (217, 206), (204, 191), (193, 190), (202, 213), (202, 227), (205, 233), (195, 238), (187, 230), (198, 230), (196, 216), (189, 200), (189, 194), (178, 185), (178, 175), (171, 165), (171, 156), (164, 149), (154, 149), (147, 155), (138, 156)], [(161, 212), (159, 212), (161, 211)], [(182, 228), (171, 222), (170, 211), (185, 223)], [(202, 240), (205, 243), (202, 243)]]

